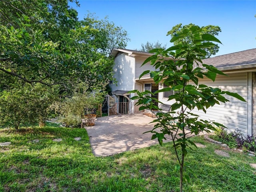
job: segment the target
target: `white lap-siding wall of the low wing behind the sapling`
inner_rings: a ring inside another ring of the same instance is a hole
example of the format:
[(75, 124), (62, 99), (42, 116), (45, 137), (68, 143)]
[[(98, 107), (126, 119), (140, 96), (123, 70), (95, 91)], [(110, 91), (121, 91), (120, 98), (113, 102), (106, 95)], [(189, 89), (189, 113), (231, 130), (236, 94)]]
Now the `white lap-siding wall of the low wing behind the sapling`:
[[(216, 77), (215, 82), (208, 79), (199, 79), (199, 84), (206, 84), (211, 87), (218, 87), (224, 91), (236, 92), (248, 101), (247, 73), (228, 74), (228, 76)], [(159, 88), (160, 89), (160, 88)], [(226, 96), (230, 102), (220, 103), (210, 107), (205, 114), (202, 110), (194, 109), (192, 112), (200, 115), (204, 120), (214, 120), (224, 124), (228, 130), (239, 129), (244, 135), (247, 135), (248, 127), (248, 103), (242, 102), (231, 96)], [(167, 101), (163, 98), (163, 93), (159, 93), (159, 100), (165, 104), (172, 104), (174, 101)]]

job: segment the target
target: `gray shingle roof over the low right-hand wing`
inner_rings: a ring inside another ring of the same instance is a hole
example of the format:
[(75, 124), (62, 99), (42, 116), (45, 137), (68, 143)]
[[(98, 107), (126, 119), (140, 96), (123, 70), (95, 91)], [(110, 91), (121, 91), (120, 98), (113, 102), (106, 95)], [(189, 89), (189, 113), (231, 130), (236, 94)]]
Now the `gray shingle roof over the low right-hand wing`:
[(256, 66), (256, 48), (245, 51), (230, 53), (202, 60), (204, 64), (213, 65), (216, 68), (239, 67), (246, 65)]

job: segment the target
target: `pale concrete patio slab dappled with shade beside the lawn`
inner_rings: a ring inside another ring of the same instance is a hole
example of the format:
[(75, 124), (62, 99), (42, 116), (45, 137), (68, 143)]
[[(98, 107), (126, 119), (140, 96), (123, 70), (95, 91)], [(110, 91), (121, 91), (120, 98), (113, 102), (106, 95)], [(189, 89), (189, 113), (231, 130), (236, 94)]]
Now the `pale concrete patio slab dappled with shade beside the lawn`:
[(92, 152), (95, 156), (109, 156), (158, 144), (157, 138), (151, 140), (152, 133), (143, 134), (154, 128), (154, 123), (150, 123), (154, 119), (144, 114), (98, 118), (94, 126), (86, 127)]

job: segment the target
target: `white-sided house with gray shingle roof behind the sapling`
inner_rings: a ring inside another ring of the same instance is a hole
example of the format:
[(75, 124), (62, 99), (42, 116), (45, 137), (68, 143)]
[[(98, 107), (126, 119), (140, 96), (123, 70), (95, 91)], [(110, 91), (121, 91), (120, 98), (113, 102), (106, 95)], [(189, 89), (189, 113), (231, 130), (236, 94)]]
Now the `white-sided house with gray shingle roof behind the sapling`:
[[(129, 113), (138, 112), (134, 101), (130, 101), (130, 90), (151, 90), (152, 92), (164, 88), (164, 84), (154, 84), (150, 76), (138, 79), (145, 70), (155, 70), (150, 64), (140, 67), (150, 53), (128, 49), (114, 48), (110, 56), (114, 56), (114, 78), (117, 86), (111, 84), (112, 93), (116, 96), (116, 102), (129, 102)], [(194, 110), (202, 119), (215, 120), (224, 124), (230, 130), (240, 130), (244, 135), (256, 135), (256, 49), (245, 50), (232, 54), (216, 56), (204, 59), (205, 64), (213, 65), (222, 70), (228, 76), (217, 75), (215, 82), (211, 80), (199, 80), (199, 84), (218, 87), (222, 90), (236, 92), (247, 102), (242, 102), (231, 96), (227, 96), (230, 102), (209, 108), (205, 114), (203, 111)], [(160, 92), (156, 97), (165, 104), (170, 92)]]

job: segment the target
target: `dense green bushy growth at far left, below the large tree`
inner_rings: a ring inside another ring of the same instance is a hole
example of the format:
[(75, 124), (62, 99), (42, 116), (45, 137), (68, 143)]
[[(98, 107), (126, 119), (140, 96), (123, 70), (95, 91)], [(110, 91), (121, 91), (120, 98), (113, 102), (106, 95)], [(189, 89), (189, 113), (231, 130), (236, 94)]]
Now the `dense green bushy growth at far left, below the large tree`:
[[(1, 74), (1, 73), (0, 73)], [(0, 91), (0, 126), (14, 127), (25, 124), (45, 125), (50, 113), (49, 106), (58, 100), (58, 89), (35, 84), (31, 86), (22, 80), (12, 80)]]

